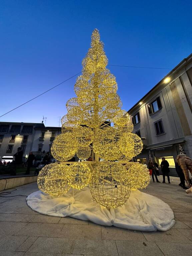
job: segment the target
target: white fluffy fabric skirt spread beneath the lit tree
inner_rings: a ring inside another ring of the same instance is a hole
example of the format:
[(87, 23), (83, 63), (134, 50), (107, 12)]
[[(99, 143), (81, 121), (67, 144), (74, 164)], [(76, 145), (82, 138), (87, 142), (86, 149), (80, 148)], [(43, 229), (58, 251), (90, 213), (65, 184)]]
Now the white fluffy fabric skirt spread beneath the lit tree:
[(90, 220), (104, 226), (140, 231), (166, 231), (174, 224), (174, 214), (168, 204), (157, 197), (132, 190), (122, 207), (108, 210), (93, 202), (90, 189), (70, 189), (63, 197), (53, 197), (36, 191), (27, 197), (27, 204), (36, 212), (59, 217)]

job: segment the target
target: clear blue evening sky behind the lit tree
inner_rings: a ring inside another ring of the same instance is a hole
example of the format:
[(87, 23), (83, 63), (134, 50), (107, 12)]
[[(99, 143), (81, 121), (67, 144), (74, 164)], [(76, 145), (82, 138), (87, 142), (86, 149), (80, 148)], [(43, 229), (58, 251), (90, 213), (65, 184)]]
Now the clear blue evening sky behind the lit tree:
[[(192, 2), (0, 0), (0, 115), (81, 71), (94, 28), (112, 65), (174, 68), (192, 52)], [(169, 70), (109, 67), (129, 110)], [(0, 121), (58, 126), (76, 78)]]

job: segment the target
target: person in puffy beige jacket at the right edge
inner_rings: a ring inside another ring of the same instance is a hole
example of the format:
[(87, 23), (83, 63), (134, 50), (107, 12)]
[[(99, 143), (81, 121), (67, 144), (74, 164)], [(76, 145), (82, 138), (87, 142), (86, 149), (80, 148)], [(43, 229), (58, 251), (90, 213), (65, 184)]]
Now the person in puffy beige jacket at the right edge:
[(177, 156), (176, 161), (178, 165), (181, 166), (181, 169), (183, 170), (187, 185), (191, 187), (189, 172), (192, 174), (192, 159), (187, 157), (185, 154), (180, 154)]

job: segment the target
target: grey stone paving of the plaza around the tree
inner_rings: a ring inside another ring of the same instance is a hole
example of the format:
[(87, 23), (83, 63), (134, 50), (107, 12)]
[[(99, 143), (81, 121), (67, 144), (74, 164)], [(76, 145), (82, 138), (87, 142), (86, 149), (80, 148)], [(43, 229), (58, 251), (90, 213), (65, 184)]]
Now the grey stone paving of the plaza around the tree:
[[(162, 176), (159, 180), (162, 182)], [(130, 231), (41, 215), (27, 206), (26, 197), (0, 197), (0, 256), (191, 256), (192, 195), (178, 184), (179, 179), (171, 177), (171, 184), (151, 182), (143, 190), (173, 209), (176, 224), (166, 232)], [(36, 190), (34, 182), (18, 187), (9, 196)]]

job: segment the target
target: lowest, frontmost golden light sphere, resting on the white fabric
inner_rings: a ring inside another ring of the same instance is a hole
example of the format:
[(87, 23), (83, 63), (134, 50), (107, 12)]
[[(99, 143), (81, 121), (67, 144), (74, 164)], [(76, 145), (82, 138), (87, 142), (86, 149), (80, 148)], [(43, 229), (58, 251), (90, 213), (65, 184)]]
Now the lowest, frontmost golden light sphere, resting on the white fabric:
[(91, 176), (91, 195), (99, 205), (107, 208), (122, 206), (130, 195), (130, 187), (123, 185), (123, 177), (119, 175), (119, 172), (124, 172), (124, 167), (118, 165), (101, 162)]

